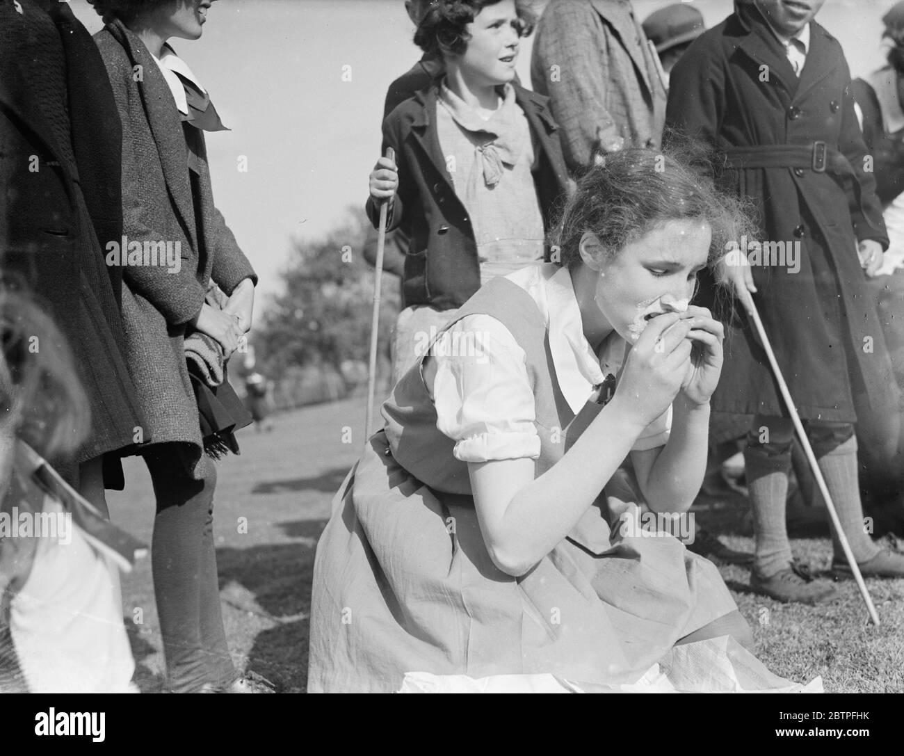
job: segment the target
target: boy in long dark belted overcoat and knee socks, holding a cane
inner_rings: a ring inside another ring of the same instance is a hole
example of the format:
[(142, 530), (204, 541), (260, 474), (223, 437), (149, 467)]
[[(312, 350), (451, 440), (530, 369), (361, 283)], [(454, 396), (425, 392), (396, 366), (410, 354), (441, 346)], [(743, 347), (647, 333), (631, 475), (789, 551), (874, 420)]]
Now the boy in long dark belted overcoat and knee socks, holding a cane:
[[(813, 21), (824, 0), (738, 0), (674, 67), (666, 120), (724, 155), (739, 194), (761, 210), (758, 240), (740, 240), (720, 276), (749, 291), (807, 426), (854, 559), (864, 576), (904, 576), (904, 554), (863, 524), (854, 396), (893, 390), (863, 270), (888, 237), (854, 116), (841, 45)], [(738, 308), (740, 309), (740, 307)], [(745, 464), (757, 547), (750, 585), (813, 603), (833, 587), (793, 559), (785, 500), (793, 426), (746, 318), (726, 338), (714, 411), (754, 415)], [(833, 531), (836, 576), (850, 574)]]

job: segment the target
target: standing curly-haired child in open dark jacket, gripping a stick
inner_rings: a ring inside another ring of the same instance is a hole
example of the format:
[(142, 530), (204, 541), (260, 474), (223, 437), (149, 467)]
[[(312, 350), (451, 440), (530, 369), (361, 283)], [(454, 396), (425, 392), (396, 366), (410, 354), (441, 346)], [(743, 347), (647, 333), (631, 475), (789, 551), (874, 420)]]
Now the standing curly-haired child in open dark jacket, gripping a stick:
[(513, 82), (530, 29), (515, 0), (443, 0), (419, 24), (415, 43), (446, 76), (383, 122), (396, 160), (377, 162), (367, 203), (374, 225), (389, 202), (389, 228), (411, 233), (397, 377), (482, 283), (544, 257), (567, 174), (546, 99)]

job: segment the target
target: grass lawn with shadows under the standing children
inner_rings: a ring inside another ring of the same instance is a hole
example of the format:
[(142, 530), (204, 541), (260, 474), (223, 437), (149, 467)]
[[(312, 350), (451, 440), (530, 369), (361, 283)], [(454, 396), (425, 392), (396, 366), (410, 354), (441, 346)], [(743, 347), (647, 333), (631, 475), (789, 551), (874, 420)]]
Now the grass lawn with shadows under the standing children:
[[(330, 500), (363, 447), (363, 402), (338, 402), (275, 417), (267, 433), (243, 430), (242, 453), (218, 466), (215, 537), (227, 636), (237, 665), (284, 693), (306, 688), (314, 547)], [(127, 490), (111, 492), (113, 520), (150, 543), (154, 496), (142, 462), (127, 460)], [(712, 502), (698, 522), (752, 551), (744, 509)], [(737, 503), (735, 503), (737, 504)], [(796, 556), (827, 569), (826, 529), (797, 532)], [(748, 619), (758, 657), (797, 682), (823, 677), (827, 692), (904, 692), (904, 580), (867, 581), (882, 624), (868, 624), (852, 581), (819, 607), (786, 606), (748, 591), (748, 572), (720, 566)], [(150, 560), (123, 578), (124, 615), (143, 692), (163, 686), (163, 655)]]

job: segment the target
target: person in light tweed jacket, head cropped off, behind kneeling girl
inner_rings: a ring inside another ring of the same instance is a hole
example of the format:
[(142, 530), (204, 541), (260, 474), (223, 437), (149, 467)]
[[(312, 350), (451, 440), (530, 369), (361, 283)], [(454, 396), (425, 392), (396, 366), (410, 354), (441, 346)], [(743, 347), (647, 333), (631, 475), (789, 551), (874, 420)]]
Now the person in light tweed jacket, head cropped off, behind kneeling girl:
[(595, 155), (662, 141), (664, 81), (627, 0), (551, 0), (537, 24), (531, 80), (550, 98), (572, 175)]

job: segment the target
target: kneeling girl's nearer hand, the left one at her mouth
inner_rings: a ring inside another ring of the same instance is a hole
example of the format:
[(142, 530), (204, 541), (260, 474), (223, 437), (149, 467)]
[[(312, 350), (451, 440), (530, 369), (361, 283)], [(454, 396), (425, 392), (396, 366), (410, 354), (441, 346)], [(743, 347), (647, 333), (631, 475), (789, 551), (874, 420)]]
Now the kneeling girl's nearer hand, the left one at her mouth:
[(691, 365), (692, 342), (687, 335), (692, 322), (685, 313), (654, 317), (627, 355), (612, 401), (644, 427), (666, 411), (681, 391)]

